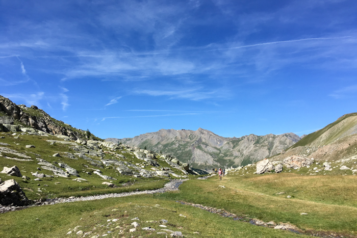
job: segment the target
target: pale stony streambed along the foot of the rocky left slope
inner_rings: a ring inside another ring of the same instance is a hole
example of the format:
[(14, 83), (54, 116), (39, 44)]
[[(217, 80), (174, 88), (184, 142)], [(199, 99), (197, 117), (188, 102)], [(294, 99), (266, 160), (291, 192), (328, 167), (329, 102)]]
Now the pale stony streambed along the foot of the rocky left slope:
[(103, 195), (94, 195), (88, 197), (69, 197), (69, 198), (54, 198), (54, 199), (46, 199), (46, 201), (41, 203), (36, 203), (30, 206), (3, 206), (0, 205), (0, 213), (7, 213), (8, 211), (14, 210), (22, 210), (24, 208), (32, 207), (32, 206), (41, 206), (41, 205), (53, 205), (56, 203), (65, 203), (65, 202), (77, 202), (77, 201), (91, 201), (105, 198), (118, 198), (118, 197), (126, 197), (132, 195), (139, 194), (155, 194), (155, 193), (165, 193), (168, 191), (176, 191), (179, 190), (179, 186), (188, 179), (180, 179), (180, 180), (171, 180), (166, 183), (164, 188), (156, 189), (156, 190), (145, 190), (145, 191), (133, 191), (127, 193), (111, 193), (111, 194), (103, 194)]

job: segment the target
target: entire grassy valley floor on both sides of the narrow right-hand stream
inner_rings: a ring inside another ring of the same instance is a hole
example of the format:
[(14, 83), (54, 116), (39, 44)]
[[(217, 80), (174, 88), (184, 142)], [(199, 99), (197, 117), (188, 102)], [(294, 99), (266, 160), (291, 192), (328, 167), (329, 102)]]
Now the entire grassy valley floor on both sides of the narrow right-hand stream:
[[(92, 232), (88, 237), (165, 237), (157, 232), (169, 229), (181, 231), (185, 237), (303, 237), (311, 233), (353, 237), (357, 232), (356, 181), (352, 175), (293, 173), (190, 179), (177, 192), (47, 205), (0, 214), (0, 236), (77, 237), (76, 233), (83, 230)], [(246, 220), (288, 223), (306, 234), (254, 226), (177, 201), (225, 209)], [(140, 219), (136, 221), (140, 227), (129, 232), (134, 228), (131, 219), (135, 217)], [(109, 224), (111, 219), (118, 221)], [(168, 221), (167, 228), (159, 226), (162, 219)], [(73, 231), (77, 226), (81, 227)], [(141, 229), (148, 226), (156, 231)], [(72, 233), (66, 235), (68, 231)]]

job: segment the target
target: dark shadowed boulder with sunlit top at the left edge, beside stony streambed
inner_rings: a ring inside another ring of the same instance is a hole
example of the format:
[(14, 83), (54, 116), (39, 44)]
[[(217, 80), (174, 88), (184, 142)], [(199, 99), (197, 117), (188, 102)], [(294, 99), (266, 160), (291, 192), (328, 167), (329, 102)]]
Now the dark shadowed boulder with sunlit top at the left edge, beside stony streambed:
[(14, 179), (6, 180), (0, 185), (0, 204), (24, 206), (28, 205), (29, 202), (29, 199)]

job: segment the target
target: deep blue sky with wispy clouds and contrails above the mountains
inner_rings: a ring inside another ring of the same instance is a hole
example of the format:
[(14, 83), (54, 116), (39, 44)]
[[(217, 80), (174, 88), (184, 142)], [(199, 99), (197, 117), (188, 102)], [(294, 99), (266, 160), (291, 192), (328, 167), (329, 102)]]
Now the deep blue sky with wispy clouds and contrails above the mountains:
[(100, 138), (309, 134), (356, 112), (357, 3), (0, 0), (0, 95)]

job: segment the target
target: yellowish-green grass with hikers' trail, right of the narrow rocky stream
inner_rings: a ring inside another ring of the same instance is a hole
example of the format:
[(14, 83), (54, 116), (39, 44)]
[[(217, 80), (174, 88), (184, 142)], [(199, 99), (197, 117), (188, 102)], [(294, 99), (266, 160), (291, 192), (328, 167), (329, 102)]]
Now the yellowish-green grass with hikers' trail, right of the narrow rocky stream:
[[(353, 184), (357, 178), (345, 177), (324, 177), (319, 182), (313, 176), (294, 174), (226, 176), (221, 181), (215, 177), (187, 181), (180, 187), (181, 193), (160, 196), (224, 208), (265, 222), (289, 222), (302, 230), (354, 234), (357, 232), (357, 196)], [(319, 187), (326, 183), (327, 186)], [(286, 193), (276, 195), (278, 192)], [(288, 195), (292, 198), (288, 199)]]

